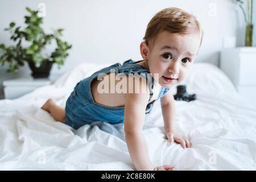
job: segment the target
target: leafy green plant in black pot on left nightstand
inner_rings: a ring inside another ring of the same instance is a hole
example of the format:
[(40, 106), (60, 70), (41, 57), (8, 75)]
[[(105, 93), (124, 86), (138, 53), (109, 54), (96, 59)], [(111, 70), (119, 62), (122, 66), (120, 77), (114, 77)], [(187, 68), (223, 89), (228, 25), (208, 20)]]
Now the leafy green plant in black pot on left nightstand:
[[(10, 23), (9, 28), (5, 28), (5, 31), (10, 32), (10, 39), (15, 45), (6, 47), (5, 44), (0, 44), (0, 63), (2, 66), (5, 63), (9, 64), (7, 72), (17, 73), (19, 67), (27, 61), (33, 77), (48, 77), (52, 64), (56, 63), (58, 68), (64, 64), (68, 56), (67, 51), (72, 45), (60, 39), (63, 29), (57, 29), (53, 34), (46, 34), (41, 27), (43, 18), (38, 15), (39, 11), (33, 11), (28, 7), (26, 10), (30, 15), (24, 16), (25, 28), (16, 27), (14, 22)], [(56, 42), (55, 50), (48, 54), (43, 53), (52, 40)], [(27, 46), (25, 47), (24, 44)]]

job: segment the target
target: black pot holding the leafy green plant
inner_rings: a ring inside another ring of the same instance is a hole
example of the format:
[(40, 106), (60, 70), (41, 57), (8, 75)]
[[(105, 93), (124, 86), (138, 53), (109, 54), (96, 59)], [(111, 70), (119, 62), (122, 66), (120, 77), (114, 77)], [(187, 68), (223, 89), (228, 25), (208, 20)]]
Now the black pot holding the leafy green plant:
[(31, 61), (28, 61), (28, 65), (30, 66), (30, 69), (32, 71), (31, 76), (34, 78), (48, 78), (49, 72), (52, 68), (52, 62), (50, 61), (44, 61), (39, 68), (35, 67), (35, 64)]

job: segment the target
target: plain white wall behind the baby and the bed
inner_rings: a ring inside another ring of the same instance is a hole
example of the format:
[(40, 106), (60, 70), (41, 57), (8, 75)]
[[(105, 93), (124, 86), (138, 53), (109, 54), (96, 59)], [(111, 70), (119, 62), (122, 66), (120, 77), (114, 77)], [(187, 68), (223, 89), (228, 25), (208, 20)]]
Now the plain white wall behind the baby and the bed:
[[(148, 21), (171, 6), (196, 15), (203, 26), (205, 35), (198, 62), (218, 65), (218, 52), (225, 36), (237, 36), (237, 46), (243, 46), (244, 42), (245, 25), (234, 0), (0, 0), (0, 43), (11, 44), (9, 34), (3, 29), (11, 21), (23, 25), (25, 7), (37, 9), (40, 2), (46, 4), (43, 25), (46, 31), (64, 28), (63, 39), (73, 45), (64, 67), (57, 69), (55, 65), (52, 74), (64, 73), (83, 62), (122, 63), (141, 59), (139, 43)], [(27, 65), (18, 75), (6, 73), (6, 69), (7, 65), (0, 68), (1, 85), (3, 80), (30, 75)]]

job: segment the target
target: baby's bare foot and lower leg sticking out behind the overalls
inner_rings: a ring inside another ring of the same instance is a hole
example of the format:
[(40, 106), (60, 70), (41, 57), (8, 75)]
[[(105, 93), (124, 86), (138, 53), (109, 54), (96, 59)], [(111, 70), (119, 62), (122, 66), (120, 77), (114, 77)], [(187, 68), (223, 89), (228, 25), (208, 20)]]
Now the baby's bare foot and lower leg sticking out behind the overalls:
[(41, 109), (48, 111), (56, 121), (63, 122), (65, 119), (65, 109), (56, 105), (52, 98), (49, 98)]

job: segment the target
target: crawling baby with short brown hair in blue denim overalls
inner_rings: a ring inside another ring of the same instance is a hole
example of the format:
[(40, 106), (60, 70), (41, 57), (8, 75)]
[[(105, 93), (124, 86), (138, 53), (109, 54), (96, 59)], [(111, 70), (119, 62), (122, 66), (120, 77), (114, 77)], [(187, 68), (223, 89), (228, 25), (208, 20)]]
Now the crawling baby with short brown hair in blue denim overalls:
[[(195, 16), (170, 7), (150, 20), (143, 40), (140, 45), (143, 60), (126, 60), (122, 65), (116, 63), (103, 68), (77, 83), (65, 109), (51, 98), (42, 109), (74, 129), (94, 121), (124, 123), (125, 139), (135, 168), (171, 171), (174, 167), (154, 167), (150, 161), (142, 132), (145, 114), (150, 113), (160, 98), (168, 142), (191, 147), (187, 138), (175, 132), (175, 100), (170, 89), (184, 80), (195, 61), (203, 30)], [(134, 78), (139, 79), (131, 81)]]

